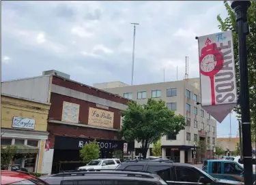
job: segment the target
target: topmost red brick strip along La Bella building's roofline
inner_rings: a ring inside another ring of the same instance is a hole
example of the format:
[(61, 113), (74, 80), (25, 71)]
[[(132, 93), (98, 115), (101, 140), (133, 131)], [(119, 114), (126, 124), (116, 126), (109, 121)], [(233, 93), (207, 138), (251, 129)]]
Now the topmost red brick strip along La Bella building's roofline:
[(100, 97), (102, 99), (115, 101), (117, 103), (126, 104), (129, 101), (128, 99), (124, 99), (122, 97), (116, 97), (115, 95), (112, 95), (109, 92), (103, 92), (102, 90), (99, 90), (99, 89), (96, 89), (96, 88), (93, 88), (93, 87), (81, 85), (78, 82), (64, 80), (63, 78), (60, 78), (60, 77), (55, 76), (55, 75), (53, 76), (53, 82), (52, 83), (57, 85), (57, 86), (63, 86), (63, 87), (66, 87), (66, 88), (70, 88), (72, 90), (87, 93), (88, 95), (93, 95), (93, 96), (96, 96), (96, 97)]

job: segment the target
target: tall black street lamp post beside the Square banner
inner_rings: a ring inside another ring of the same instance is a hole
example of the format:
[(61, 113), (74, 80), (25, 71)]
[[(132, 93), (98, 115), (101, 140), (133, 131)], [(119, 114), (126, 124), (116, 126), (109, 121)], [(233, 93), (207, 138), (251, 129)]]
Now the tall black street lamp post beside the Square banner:
[(231, 1), (231, 8), (236, 13), (236, 32), (238, 33), (238, 54), (240, 67), (240, 107), (242, 121), (242, 139), (244, 154), (244, 184), (253, 184), (253, 166), (251, 150), (251, 119), (249, 107), (249, 88), (248, 88), (248, 64), (246, 35), (249, 33), (247, 24), (247, 10), (251, 1)]

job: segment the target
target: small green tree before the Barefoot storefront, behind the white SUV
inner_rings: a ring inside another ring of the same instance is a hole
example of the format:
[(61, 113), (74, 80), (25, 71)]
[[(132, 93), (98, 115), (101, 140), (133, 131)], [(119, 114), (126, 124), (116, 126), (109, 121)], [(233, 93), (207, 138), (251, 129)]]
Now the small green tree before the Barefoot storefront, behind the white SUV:
[(84, 163), (89, 163), (89, 161), (99, 158), (100, 147), (98, 146), (96, 139), (83, 146), (83, 148), (80, 150), (80, 156)]

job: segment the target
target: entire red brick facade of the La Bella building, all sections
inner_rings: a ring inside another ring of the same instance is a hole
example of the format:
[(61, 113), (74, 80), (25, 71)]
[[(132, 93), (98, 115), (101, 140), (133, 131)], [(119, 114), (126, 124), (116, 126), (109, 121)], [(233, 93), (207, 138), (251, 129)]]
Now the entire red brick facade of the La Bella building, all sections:
[[(88, 95), (93, 95), (95, 97), (100, 97), (102, 99), (107, 99), (109, 101), (114, 101), (117, 103), (126, 104), (128, 99), (122, 97), (117, 97), (108, 92), (103, 92), (97, 90), (96, 88), (91, 88), (78, 82), (72, 82), (70, 80), (64, 80), (63, 78), (53, 76), (52, 84), (57, 86), (63, 86), (65, 88), (70, 88), (79, 92), (84, 92)], [(80, 105), (79, 110), (79, 124), (88, 124), (88, 114), (89, 107), (94, 107), (100, 110), (104, 110), (100, 107), (96, 107), (96, 103), (91, 103), (89, 101), (83, 101), (81, 99), (76, 99), (73, 97), (68, 97), (64, 95), (59, 95), (51, 92), (51, 108), (48, 114), (49, 120), (59, 120), (61, 121), (63, 101), (70, 103), (76, 103)], [(114, 113), (113, 118), (113, 129), (120, 129), (121, 114), (120, 110), (113, 107), (109, 107), (109, 112)], [(48, 122), (47, 131), (49, 132), (50, 148), (54, 148), (55, 145), (55, 135), (69, 136), (69, 137), (91, 137), (95, 139), (121, 139), (117, 131), (109, 131), (104, 129), (92, 129), (89, 127), (79, 127), (67, 124), (56, 124), (53, 122)]]

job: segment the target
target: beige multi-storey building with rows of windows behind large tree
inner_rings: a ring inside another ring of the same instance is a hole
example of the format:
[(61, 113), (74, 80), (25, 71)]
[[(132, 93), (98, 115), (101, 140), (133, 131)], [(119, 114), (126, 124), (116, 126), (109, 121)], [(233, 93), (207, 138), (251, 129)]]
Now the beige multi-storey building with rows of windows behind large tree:
[[(199, 78), (193, 78), (188, 82), (181, 80), (117, 87), (111, 85), (111, 82), (107, 82), (101, 86), (111, 86), (104, 90), (141, 104), (146, 103), (149, 98), (162, 99), (170, 110), (175, 111), (175, 114), (184, 116), (186, 118), (184, 130), (177, 135), (169, 134), (161, 138), (162, 157), (180, 163), (193, 163), (194, 144), (197, 145), (195, 141), (202, 140), (206, 144), (206, 151), (196, 156), (197, 161), (201, 161), (202, 158), (213, 157), (216, 140), (216, 120), (212, 119), (212, 116), (205, 112), (200, 104), (197, 105), (197, 102), (201, 101), (199, 84)], [(140, 153), (140, 146), (141, 144), (135, 142), (135, 155)], [(152, 144), (147, 156), (152, 155), (151, 148)]]

